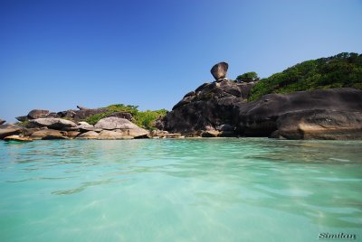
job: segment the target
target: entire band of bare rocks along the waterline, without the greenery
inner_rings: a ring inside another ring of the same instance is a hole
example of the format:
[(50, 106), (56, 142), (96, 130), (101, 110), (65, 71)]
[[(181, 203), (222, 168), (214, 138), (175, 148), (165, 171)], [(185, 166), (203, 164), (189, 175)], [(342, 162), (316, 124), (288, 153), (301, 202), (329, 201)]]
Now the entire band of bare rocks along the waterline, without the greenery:
[(282, 139), (362, 139), (362, 90), (329, 88), (268, 94), (248, 101), (258, 82), (226, 78), (228, 64), (211, 70), (214, 82), (188, 92), (149, 131), (132, 123), (129, 112), (113, 112), (94, 126), (87, 117), (104, 114), (106, 108), (50, 112), (34, 109), (16, 119), (22, 126), (4, 125), (0, 139), (133, 139), (182, 137), (262, 136)]

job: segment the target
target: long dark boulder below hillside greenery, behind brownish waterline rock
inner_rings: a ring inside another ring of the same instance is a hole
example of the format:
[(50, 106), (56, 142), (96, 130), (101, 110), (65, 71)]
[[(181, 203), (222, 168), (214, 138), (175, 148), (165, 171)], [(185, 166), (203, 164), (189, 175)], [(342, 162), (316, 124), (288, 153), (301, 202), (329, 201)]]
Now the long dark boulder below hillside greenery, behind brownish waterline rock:
[(288, 113), (308, 115), (306, 111), (311, 110), (330, 110), (341, 114), (345, 111), (362, 112), (362, 91), (355, 88), (330, 88), (284, 95), (268, 94), (252, 102), (238, 103), (234, 110), (240, 135), (268, 136), (278, 129), (278, 118)]

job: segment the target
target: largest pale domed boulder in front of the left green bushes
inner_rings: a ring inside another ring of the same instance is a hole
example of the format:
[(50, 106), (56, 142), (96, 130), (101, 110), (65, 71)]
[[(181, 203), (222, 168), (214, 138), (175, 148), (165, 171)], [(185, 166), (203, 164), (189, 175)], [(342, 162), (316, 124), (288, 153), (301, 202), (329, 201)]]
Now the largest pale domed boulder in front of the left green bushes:
[(136, 126), (125, 118), (120, 118), (116, 116), (110, 116), (100, 119), (95, 127), (107, 130), (119, 129), (127, 132), (127, 135), (133, 137), (146, 137), (148, 135), (148, 131), (146, 129)]

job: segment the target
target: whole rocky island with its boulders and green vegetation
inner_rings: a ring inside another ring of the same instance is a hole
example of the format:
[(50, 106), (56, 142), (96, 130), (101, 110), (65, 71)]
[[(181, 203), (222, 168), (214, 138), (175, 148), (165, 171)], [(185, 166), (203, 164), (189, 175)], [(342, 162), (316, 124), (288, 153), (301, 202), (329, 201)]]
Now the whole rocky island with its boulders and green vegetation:
[(228, 67), (215, 64), (214, 81), (188, 92), (170, 112), (123, 105), (34, 109), (16, 117), (18, 124), (0, 120), (0, 139), (362, 138), (362, 55), (305, 61), (268, 79), (255, 72), (227, 79)]

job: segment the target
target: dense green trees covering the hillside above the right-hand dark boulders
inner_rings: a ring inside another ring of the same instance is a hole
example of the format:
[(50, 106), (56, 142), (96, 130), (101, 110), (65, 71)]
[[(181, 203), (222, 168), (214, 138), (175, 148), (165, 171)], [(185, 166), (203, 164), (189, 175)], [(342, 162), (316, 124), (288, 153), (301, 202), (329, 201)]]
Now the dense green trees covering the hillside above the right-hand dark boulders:
[(252, 88), (249, 100), (269, 93), (318, 88), (362, 89), (362, 54), (343, 52), (329, 58), (301, 62), (259, 81)]

